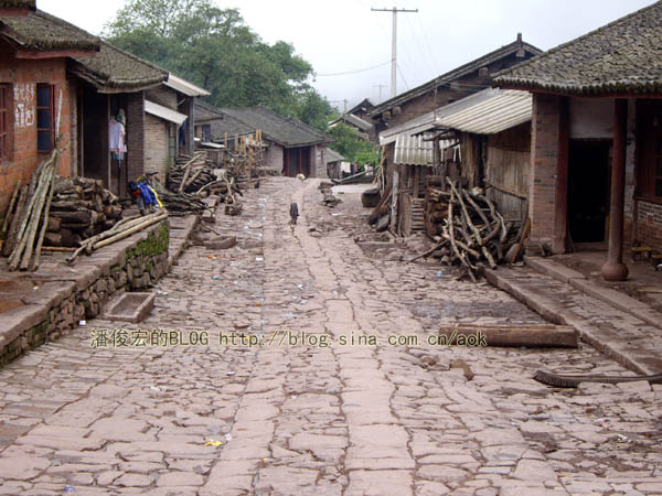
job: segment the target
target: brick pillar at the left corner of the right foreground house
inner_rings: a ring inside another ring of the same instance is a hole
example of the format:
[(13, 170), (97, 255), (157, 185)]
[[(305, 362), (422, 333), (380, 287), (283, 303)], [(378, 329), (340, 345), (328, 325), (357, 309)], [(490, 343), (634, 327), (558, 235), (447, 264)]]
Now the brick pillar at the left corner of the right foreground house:
[(535, 244), (549, 245), (554, 236), (559, 109), (559, 97), (534, 94), (528, 215), (532, 222), (531, 241)]

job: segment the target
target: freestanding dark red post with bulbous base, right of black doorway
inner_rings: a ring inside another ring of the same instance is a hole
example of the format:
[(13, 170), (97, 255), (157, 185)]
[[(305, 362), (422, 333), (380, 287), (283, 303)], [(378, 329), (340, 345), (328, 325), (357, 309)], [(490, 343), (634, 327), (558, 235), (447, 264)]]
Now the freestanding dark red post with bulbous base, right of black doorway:
[(613, 103), (613, 151), (611, 157), (611, 196), (609, 201), (609, 254), (602, 266), (606, 281), (624, 281), (628, 267), (623, 263), (623, 197), (626, 192), (626, 143), (628, 100)]

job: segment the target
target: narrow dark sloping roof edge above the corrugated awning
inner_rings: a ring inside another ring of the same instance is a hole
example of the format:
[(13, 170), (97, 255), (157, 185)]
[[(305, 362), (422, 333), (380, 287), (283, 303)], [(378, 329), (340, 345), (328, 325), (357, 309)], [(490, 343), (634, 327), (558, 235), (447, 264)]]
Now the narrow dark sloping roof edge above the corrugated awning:
[(517, 53), (521, 50), (523, 50), (524, 52), (528, 52), (530, 54), (535, 54), (535, 55), (542, 53), (542, 51), (536, 48), (535, 46), (521, 41), (521, 36), (519, 35), (517, 40), (514, 41), (513, 43), (504, 45), (501, 48), (498, 48), (493, 52), (490, 52), (487, 55), (483, 55), (482, 57), (476, 58), (474, 61), (471, 61), (465, 65), (461, 65), (446, 74), (437, 76), (433, 80), (429, 80), (420, 86), (417, 86), (416, 88), (409, 89), (408, 91), (402, 93), (399, 95), (394, 96), (393, 98), (389, 98), (388, 100), (381, 103), (373, 109), (369, 110), (367, 115), (369, 115), (369, 117), (377, 116), (377, 115), (380, 115), (393, 107), (402, 105), (413, 98), (425, 95), (426, 93), (434, 90), (436, 87), (447, 85), (448, 83), (451, 83), (456, 79), (459, 79), (460, 77), (471, 74), (471, 73), (480, 69), (481, 67), (484, 67), (485, 65), (489, 65), (489, 64), (492, 64), (492, 63), (499, 61), (500, 58), (503, 58), (503, 57), (506, 57), (514, 53)]

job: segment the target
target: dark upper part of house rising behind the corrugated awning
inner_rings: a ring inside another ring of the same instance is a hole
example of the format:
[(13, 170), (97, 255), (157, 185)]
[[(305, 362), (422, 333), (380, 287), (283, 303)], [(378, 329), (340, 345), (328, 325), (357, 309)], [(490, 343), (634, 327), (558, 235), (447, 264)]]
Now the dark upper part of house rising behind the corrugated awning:
[[(517, 34), (517, 39), (513, 43), (389, 98), (369, 110), (366, 116), (376, 125), (387, 164), (393, 163), (395, 141), (398, 134), (389, 132), (392, 128), (410, 122), (421, 116), (427, 116), (427, 120), (431, 122), (434, 120), (433, 112), (436, 109), (490, 87), (492, 75), (540, 53), (542, 52), (538, 48), (522, 41), (522, 35)], [(383, 132), (389, 133), (391, 138), (382, 139)], [(415, 132), (407, 132), (407, 136), (414, 134)]]

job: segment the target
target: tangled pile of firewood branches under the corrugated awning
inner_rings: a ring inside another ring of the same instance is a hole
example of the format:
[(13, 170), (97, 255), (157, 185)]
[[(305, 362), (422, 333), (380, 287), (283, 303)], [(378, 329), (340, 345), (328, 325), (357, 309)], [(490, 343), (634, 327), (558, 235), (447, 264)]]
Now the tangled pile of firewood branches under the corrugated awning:
[(437, 242), (413, 260), (434, 256), (442, 263), (461, 266), (476, 281), (479, 266), (495, 268), (505, 261), (524, 233), (504, 220), (482, 190), (467, 191), (449, 179), (447, 182), (448, 190), (427, 191), (425, 225)]

